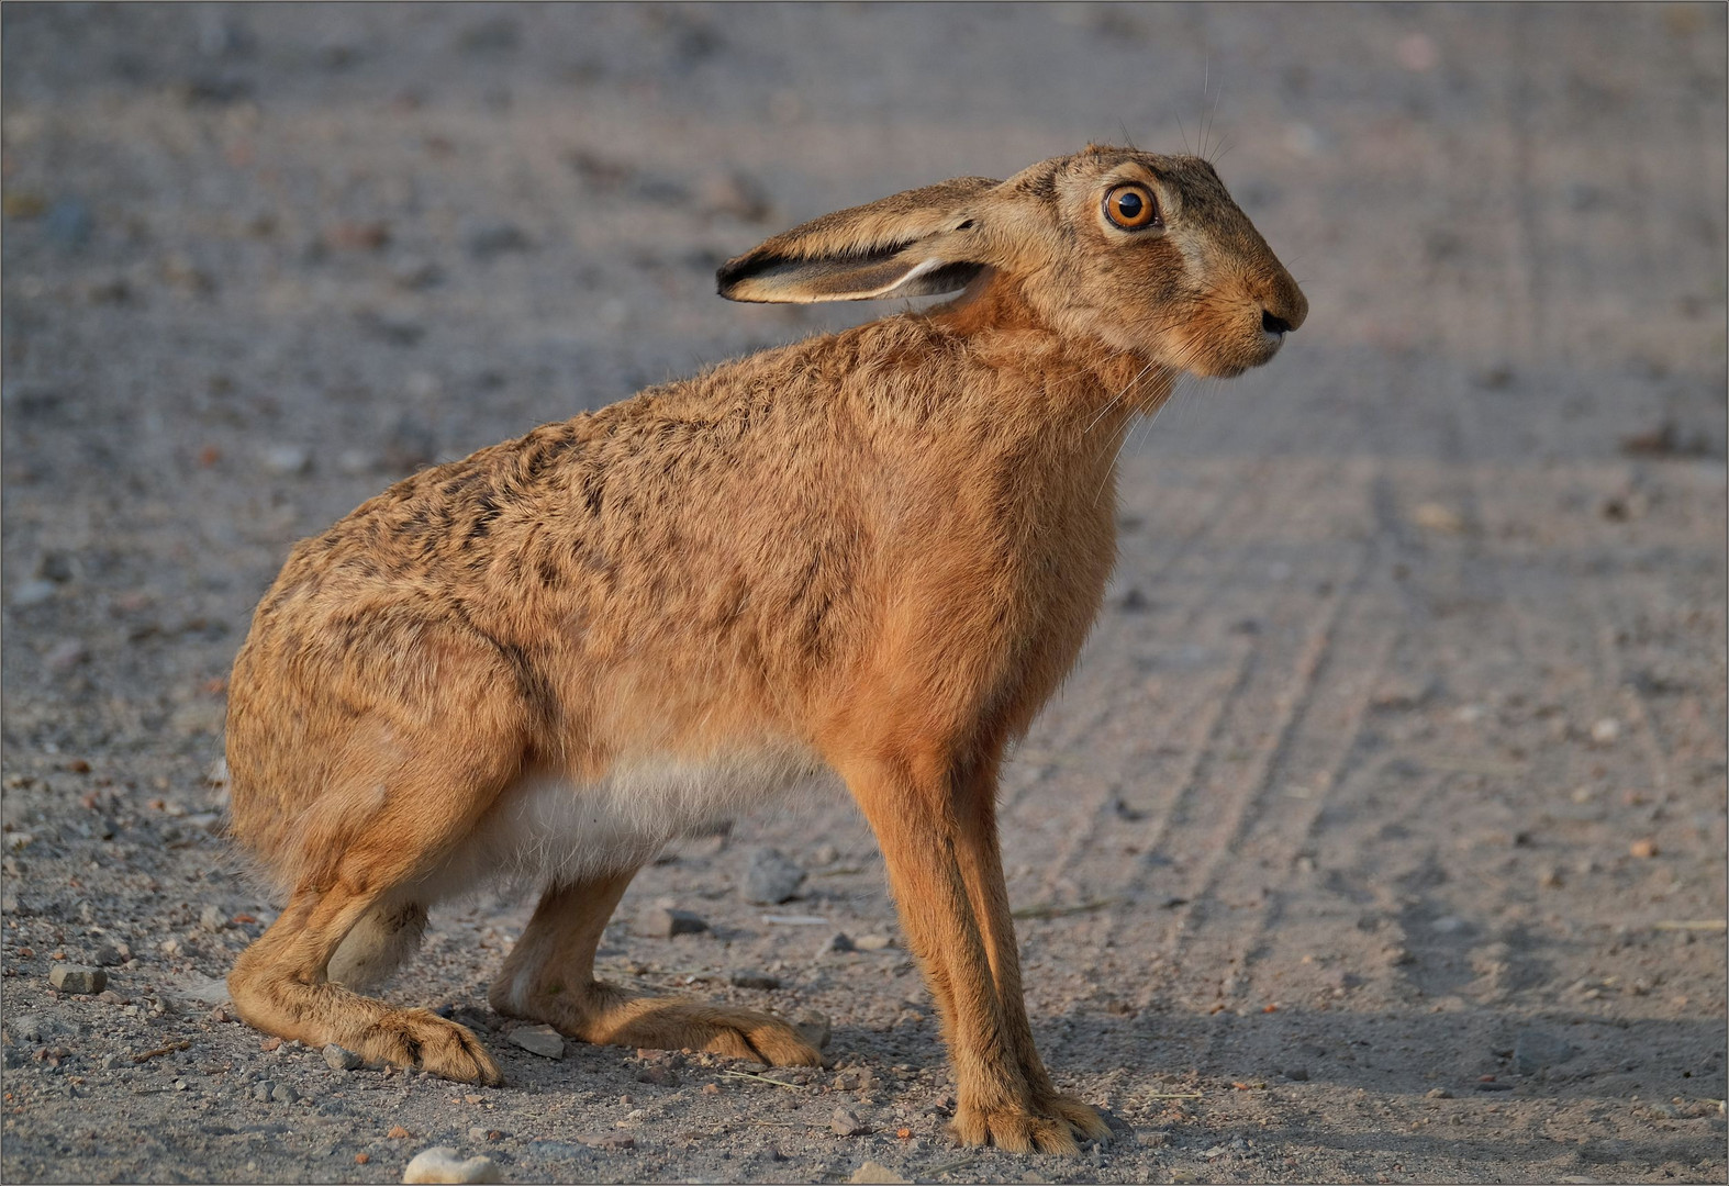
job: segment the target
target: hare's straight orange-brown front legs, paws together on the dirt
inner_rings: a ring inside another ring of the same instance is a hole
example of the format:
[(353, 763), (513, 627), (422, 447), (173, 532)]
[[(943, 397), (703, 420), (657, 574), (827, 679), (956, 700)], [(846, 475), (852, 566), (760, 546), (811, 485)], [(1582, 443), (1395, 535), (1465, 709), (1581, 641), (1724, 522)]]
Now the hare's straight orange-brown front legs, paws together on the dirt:
[(973, 802), (980, 790), (989, 800), (994, 780), (906, 754), (849, 769), (847, 787), (877, 832), (901, 921), (942, 1010), (954, 1136), (1017, 1153), (1077, 1151), (1075, 1134), (1096, 1136), (1103, 1122), (1056, 1094), (1032, 1049), (994, 832), (979, 832), (994, 819)]

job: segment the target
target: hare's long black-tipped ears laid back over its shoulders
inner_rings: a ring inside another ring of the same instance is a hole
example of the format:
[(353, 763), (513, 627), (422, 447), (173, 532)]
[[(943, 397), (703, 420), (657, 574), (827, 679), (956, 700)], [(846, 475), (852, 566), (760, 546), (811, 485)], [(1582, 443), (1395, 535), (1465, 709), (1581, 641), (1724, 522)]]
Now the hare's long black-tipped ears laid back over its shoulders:
[(986, 266), (968, 206), (998, 185), (963, 176), (823, 214), (721, 265), (721, 296), (811, 304), (965, 289)]

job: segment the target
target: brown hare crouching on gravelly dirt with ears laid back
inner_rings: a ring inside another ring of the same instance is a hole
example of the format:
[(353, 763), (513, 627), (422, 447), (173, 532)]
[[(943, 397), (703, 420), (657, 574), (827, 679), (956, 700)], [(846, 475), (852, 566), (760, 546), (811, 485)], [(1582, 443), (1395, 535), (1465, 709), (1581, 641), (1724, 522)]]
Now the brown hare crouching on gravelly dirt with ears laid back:
[(500, 1082), (467, 1029), (360, 989), (429, 904), (503, 877), (541, 899), (500, 1013), (818, 1063), (593, 960), (667, 840), (837, 776), (942, 1015), (954, 1134), (1105, 1138), (1032, 1046), (998, 768), (1098, 612), (1129, 422), (1184, 372), (1271, 360), (1307, 301), (1210, 164), (1112, 147), (818, 218), (719, 290), (960, 296), (427, 469), (301, 541), (230, 685), (233, 833), (287, 896), (228, 977), (239, 1015)]

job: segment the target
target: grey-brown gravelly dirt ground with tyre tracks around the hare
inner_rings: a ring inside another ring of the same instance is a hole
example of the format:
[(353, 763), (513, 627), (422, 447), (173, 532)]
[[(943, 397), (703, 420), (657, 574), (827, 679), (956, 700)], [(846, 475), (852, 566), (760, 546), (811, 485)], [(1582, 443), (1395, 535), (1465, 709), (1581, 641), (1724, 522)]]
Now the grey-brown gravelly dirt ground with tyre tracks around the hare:
[[(7, 1181), (1726, 1179), (1724, 7), (0, 16)], [(603, 947), (826, 1015), (832, 1068), (519, 1048), (517, 899), (389, 991), (503, 1089), (226, 1018), (271, 902), (218, 835), (223, 681), (296, 538), (870, 316), (712, 296), (783, 226), (1124, 135), (1203, 138), (1312, 313), (1136, 434), (1008, 773), (1034, 1030), (1115, 1143), (942, 1134), (906, 951), (832, 949), (897, 935), (845, 802), (667, 854)], [(759, 845), (801, 899), (743, 901)], [(709, 930), (633, 934), (659, 902)]]

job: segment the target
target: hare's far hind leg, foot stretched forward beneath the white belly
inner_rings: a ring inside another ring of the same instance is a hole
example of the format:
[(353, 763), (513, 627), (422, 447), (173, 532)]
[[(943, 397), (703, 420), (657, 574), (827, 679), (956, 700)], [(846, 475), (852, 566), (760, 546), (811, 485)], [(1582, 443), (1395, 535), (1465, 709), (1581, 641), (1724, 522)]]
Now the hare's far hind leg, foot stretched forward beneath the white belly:
[(546, 1022), (584, 1043), (707, 1049), (773, 1067), (820, 1065), (814, 1046), (766, 1013), (643, 996), (595, 980), (600, 934), (635, 875), (548, 889), (493, 982), (493, 1008)]

